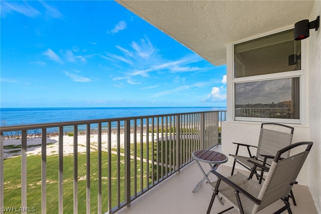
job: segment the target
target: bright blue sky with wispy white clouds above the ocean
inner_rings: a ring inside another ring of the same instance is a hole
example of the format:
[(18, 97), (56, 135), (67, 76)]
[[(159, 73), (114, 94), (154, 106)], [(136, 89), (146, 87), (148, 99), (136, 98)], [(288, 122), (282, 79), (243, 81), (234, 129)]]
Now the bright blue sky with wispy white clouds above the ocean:
[(1, 1), (1, 107), (226, 106), (214, 66), (112, 1)]

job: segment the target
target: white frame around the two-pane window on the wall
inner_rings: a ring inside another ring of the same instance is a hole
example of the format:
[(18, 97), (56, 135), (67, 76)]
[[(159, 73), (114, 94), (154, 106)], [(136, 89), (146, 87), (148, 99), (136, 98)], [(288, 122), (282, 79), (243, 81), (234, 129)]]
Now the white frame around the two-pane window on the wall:
[[(282, 29), (281, 31), (286, 31), (290, 29)], [(262, 38), (265, 36), (269, 36), (278, 32), (270, 32), (269, 34), (260, 35), (257, 37), (249, 38), (247, 40), (238, 41), (235, 43), (230, 44), (230, 57), (231, 57), (231, 69), (230, 69), (230, 80), (231, 80), (231, 95), (232, 95), (232, 106), (230, 105), (230, 109), (232, 110), (232, 120), (233, 121), (244, 121), (244, 122), (270, 122), (270, 123), (287, 123), (287, 124), (302, 124), (305, 118), (305, 115), (303, 115), (305, 111), (305, 105), (303, 103), (305, 102), (305, 98), (303, 97), (304, 94), (304, 86), (305, 86), (305, 77), (304, 77), (304, 59), (305, 59), (305, 43), (301, 43), (301, 70), (293, 70), (293, 71), (285, 71), (285, 72), (278, 72), (278, 73), (271, 73), (271, 74), (262, 74), (262, 75), (254, 75), (254, 76), (246, 76), (246, 77), (235, 77), (234, 74), (234, 46), (246, 41), (251, 41), (254, 39)], [(229, 53), (229, 51), (227, 51)], [(273, 80), (273, 79), (282, 79), (282, 78), (292, 78), (292, 77), (299, 77), (299, 97), (300, 97), (300, 103), (299, 103), (299, 119), (281, 119), (281, 118), (251, 118), (251, 117), (236, 117), (235, 116), (235, 84), (236, 83), (244, 83), (244, 82), (253, 82), (253, 81), (264, 81), (264, 80)], [(228, 107), (229, 108), (229, 107)]]

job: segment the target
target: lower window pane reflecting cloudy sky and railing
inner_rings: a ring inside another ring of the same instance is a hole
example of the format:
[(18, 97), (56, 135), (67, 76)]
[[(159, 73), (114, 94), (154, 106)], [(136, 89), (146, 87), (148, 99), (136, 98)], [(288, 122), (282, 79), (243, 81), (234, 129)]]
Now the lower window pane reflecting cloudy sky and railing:
[(299, 119), (299, 77), (236, 83), (235, 117)]

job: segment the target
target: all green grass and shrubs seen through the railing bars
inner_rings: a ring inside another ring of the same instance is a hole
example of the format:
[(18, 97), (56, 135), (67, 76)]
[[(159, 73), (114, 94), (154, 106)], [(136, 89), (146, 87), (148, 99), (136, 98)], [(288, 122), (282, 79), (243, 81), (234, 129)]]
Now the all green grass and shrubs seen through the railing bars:
[[(192, 150), (197, 149), (190, 140), (182, 140), (180, 142), (182, 155), (181, 161), (184, 163), (191, 159)], [(10, 149), (21, 148), (13, 146)], [(9, 149), (9, 148), (8, 148)], [(164, 164), (172, 165), (175, 163), (175, 157), (170, 155), (176, 150), (176, 144), (173, 141), (159, 141), (148, 143), (149, 160), (154, 162), (162, 162)], [(112, 149), (117, 151), (117, 149)], [(130, 155), (141, 158), (147, 156), (147, 144), (136, 143), (130, 146)], [(124, 153), (123, 148), (119, 148), (120, 153)], [(166, 155), (167, 154), (167, 155)], [(176, 155), (176, 154), (175, 154)], [(63, 200), (64, 212), (73, 213), (73, 156), (66, 155), (63, 157)], [(86, 154), (78, 154), (78, 212), (86, 212)], [(36, 213), (41, 213), (41, 155), (34, 155), (27, 157), (27, 205), (35, 207)], [(118, 203), (124, 201), (124, 157), (118, 157), (111, 154), (111, 206), (117, 206)], [(47, 213), (58, 212), (58, 173), (59, 173), (59, 157), (58, 155), (47, 156)], [(98, 152), (90, 153), (90, 210), (91, 213), (97, 213), (98, 201)], [(117, 165), (119, 165), (119, 179), (117, 173)], [(171, 172), (171, 168), (159, 166), (158, 164), (148, 164), (148, 179), (146, 175), (147, 163), (136, 161), (136, 187), (137, 192), (144, 189), (151, 184), (152, 179), (158, 180)], [(134, 195), (134, 160), (130, 160), (131, 172), (131, 195)], [(142, 171), (142, 174), (141, 174)], [(6, 207), (20, 207), (21, 204), (21, 156), (8, 158), (4, 160), (4, 206)], [(140, 186), (142, 183), (142, 186)], [(117, 192), (118, 185), (120, 192)], [(108, 210), (108, 153), (102, 152), (102, 210)]]

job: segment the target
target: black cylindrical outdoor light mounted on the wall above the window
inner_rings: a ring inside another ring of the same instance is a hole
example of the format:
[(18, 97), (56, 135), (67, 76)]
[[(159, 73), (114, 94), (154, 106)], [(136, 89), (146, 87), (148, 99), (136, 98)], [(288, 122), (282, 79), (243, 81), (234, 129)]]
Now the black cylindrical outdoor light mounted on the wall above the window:
[(309, 29), (315, 29), (317, 31), (320, 26), (320, 16), (316, 17), (316, 20), (309, 22), (305, 19), (295, 23), (294, 25), (294, 40), (306, 39), (310, 36)]

